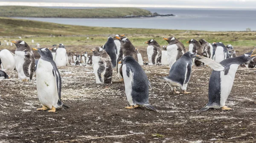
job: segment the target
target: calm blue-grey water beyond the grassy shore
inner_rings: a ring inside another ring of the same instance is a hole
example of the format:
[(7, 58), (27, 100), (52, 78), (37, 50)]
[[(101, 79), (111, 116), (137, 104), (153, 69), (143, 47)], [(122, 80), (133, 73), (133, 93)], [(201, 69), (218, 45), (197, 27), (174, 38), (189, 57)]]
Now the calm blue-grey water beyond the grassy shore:
[[(59, 7), (55, 7), (59, 8)], [(67, 7), (66, 7), (67, 8)], [(152, 13), (175, 14), (171, 17), (149, 18), (29, 18), (22, 19), (55, 22), (70, 25), (154, 28), (206, 31), (256, 31), (255, 9), (192, 9), (192, 8), (144, 8)]]

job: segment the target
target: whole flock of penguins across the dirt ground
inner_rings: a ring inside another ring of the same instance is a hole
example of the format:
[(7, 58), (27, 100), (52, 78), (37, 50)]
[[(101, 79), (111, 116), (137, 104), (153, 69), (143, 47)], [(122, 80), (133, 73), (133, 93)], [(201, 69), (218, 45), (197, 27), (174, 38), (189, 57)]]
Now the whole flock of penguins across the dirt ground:
[[(184, 45), (175, 37), (163, 38), (169, 44), (160, 47), (154, 39), (146, 44), (148, 62), (143, 58), (138, 49), (125, 35), (108, 37), (108, 41), (101, 47), (93, 48), (93, 56), (85, 52), (82, 56), (67, 53), (63, 44), (53, 45), (52, 48), (30, 48), (22, 40), (11, 41), (16, 45), (15, 54), (7, 49), (0, 51), (0, 76), (9, 78), (3, 70), (17, 70), (18, 78), (22, 81), (30, 81), (36, 71), (36, 84), (39, 101), (42, 108), (37, 110), (48, 110), (55, 112), (56, 108), (68, 108), (61, 101), (61, 74), (59, 66), (67, 64), (93, 64), (93, 73), (97, 84), (111, 84), (113, 69), (116, 68), (118, 77), (124, 81), (125, 93), (130, 106), (127, 109), (145, 107), (156, 110), (148, 102), (148, 90), (151, 84), (145, 71), (141, 67), (148, 65), (169, 65), (169, 76), (159, 77), (171, 87), (174, 94), (188, 94), (187, 84), (192, 73), (192, 66), (208, 65), (213, 69), (209, 79), (209, 102), (198, 110), (206, 111), (210, 108), (229, 110), (225, 106), (227, 97), (233, 86), (236, 70), (239, 66), (254, 67), (254, 48), (249, 53), (236, 56), (232, 45), (225, 46), (221, 42), (210, 44), (204, 39), (199, 41), (191, 39), (189, 51), (186, 52)], [(58, 48), (57, 48), (58, 46)], [(35, 50), (40, 54), (40, 59), (35, 60), (32, 52)], [(246, 64), (247, 63), (247, 64)], [(176, 91), (179, 87), (182, 92)]]

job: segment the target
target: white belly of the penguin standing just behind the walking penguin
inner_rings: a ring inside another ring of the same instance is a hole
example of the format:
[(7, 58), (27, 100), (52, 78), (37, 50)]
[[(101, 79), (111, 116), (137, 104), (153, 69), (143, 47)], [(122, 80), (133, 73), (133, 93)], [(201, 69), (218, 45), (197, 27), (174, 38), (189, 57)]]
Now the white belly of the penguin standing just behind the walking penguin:
[(166, 50), (167, 50), (167, 61), (169, 63), (169, 67), (171, 69), (172, 64), (174, 64), (176, 62), (177, 59), (177, 54), (178, 54), (178, 46), (176, 44), (173, 45), (168, 45)]

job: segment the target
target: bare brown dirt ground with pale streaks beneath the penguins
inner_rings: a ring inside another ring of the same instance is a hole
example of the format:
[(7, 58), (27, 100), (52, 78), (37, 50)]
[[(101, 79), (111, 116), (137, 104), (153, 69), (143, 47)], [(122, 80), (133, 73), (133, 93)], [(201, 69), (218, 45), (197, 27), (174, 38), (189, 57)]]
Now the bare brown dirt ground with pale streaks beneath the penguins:
[[(145, 53), (143, 53), (145, 55)], [(145, 57), (145, 56), (144, 56)], [(0, 81), (0, 143), (164, 143), (255, 142), (256, 70), (239, 68), (227, 99), (230, 111), (195, 111), (208, 102), (209, 67), (193, 67), (187, 95), (174, 95), (159, 76), (168, 66), (143, 65), (152, 90), (149, 102), (157, 111), (125, 109), (124, 84), (113, 73), (113, 84), (96, 84), (92, 66), (59, 67), (62, 101), (70, 109), (36, 111), (35, 75), (30, 82)], [(34, 73), (35, 74), (35, 73)], [(180, 91), (180, 90), (178, 90)]]

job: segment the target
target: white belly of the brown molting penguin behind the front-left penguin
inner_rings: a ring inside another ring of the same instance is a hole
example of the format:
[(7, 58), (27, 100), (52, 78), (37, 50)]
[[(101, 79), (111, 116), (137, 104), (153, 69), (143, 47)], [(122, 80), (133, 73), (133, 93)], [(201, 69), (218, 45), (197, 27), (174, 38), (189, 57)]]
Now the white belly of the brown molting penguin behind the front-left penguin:
[(25, 62), (25, 52), (15, 51), (15, 60), (16, 60), (16, 70), (18, 72), (18, 77), (20, 80), (30, 80), (23, 71), (23, 64)]

